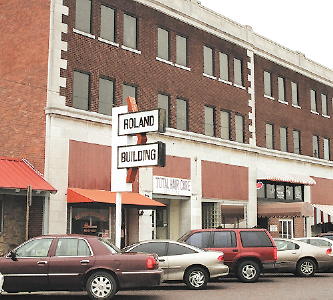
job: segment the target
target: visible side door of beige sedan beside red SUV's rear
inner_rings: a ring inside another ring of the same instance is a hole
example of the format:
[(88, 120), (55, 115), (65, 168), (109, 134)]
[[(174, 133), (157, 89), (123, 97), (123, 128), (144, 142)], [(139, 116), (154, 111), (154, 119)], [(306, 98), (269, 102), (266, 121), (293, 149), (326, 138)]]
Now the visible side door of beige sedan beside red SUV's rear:
[(277, 267), (279, 270), (295, 270), (296, 263), (301, 255), (300, 246), (291, 241), (276, 240), (277, 246)]

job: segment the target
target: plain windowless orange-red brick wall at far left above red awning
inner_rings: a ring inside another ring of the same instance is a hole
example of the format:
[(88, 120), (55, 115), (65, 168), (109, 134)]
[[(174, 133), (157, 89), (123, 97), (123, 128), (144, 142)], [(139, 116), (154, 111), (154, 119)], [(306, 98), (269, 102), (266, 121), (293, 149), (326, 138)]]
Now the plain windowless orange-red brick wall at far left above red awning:
[(1, 1), (0, 10), (0, 154), (43, 172), (50, 1)]

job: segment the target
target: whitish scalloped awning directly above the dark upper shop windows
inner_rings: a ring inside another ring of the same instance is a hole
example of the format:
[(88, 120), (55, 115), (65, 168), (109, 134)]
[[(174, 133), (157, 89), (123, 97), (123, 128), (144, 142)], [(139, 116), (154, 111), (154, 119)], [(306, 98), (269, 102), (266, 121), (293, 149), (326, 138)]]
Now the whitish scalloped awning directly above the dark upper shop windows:
[(257, 180), (281, 181), (304, 185), (314, 185), (316, 181), (310, 176), (290, 173), (279, 173), (274, 170), (257, 171)]

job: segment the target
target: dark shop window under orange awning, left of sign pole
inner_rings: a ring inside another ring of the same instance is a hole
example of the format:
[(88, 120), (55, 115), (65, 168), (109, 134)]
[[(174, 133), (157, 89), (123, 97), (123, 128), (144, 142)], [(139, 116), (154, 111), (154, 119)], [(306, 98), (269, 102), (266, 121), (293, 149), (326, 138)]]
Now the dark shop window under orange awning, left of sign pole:
[(72, 233), (110, 237), (108, 208), (72, 208)]

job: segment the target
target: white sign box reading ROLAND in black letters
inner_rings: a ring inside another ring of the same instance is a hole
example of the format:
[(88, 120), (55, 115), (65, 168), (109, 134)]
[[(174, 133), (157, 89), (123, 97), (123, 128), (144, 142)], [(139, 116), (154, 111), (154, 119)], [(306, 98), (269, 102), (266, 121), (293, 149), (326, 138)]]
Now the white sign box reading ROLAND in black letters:
[(121, 114), (118, 117), (118, 135), (165, 132), (165, 110), (155, 109)]

